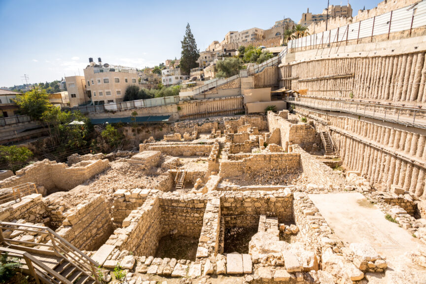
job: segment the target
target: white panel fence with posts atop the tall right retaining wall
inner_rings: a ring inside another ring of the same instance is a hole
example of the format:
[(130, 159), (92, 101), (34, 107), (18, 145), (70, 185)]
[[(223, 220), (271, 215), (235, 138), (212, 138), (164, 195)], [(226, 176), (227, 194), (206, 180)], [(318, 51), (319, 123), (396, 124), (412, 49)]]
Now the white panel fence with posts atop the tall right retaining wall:
[(391, 33), (410, 31), (426, 25), (426, 1), (419, 1), (410, 6), (393, 10), (379, 16), (342, 26), (326, 32), (292, 39), (288, 42), (289, 48), (320, 45), (329, 47), (333, 43), (355, 40), (360, 38), (388, 35)]

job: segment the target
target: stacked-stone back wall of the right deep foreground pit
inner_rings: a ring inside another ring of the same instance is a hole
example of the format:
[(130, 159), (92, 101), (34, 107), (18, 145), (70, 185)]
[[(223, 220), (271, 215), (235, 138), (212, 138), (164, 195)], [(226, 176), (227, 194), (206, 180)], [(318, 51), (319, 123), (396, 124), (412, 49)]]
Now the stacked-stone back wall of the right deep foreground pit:
[(258, 226), (259, 215), (277, 216), (280, 223), (293, 220), (293, 196), (289, 190), (251, 191), (249, 194), (225, 191), (220, 197), (225, 227)]

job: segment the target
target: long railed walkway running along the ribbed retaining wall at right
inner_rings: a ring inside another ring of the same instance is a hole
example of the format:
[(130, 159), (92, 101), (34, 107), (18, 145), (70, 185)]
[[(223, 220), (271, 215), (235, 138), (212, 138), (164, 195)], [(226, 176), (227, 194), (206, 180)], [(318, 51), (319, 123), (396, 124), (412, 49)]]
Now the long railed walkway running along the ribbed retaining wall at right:
[(324, 101), (308, 98), (286, 98), (290, 104), (308, 106), (327, 111), (356, 114), (383, 121), (426, 129), (426, 110), (413, 107), (382, 106), (347, 101)]

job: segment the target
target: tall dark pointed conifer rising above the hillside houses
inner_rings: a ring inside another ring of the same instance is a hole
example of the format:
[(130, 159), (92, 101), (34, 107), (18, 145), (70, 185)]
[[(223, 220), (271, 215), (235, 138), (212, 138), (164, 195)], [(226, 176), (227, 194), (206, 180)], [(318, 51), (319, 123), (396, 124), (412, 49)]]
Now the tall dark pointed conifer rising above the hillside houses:
[(185, 36), (182, 43), (182, 52), (180, 56), (180, 69), (183, 73), (189, 74), (192, 68), (198, 66), (197, 60), (200, 57), (200, 52), (197, 49), (194, 35), (192, 35), (189, 23), (186, 24)]

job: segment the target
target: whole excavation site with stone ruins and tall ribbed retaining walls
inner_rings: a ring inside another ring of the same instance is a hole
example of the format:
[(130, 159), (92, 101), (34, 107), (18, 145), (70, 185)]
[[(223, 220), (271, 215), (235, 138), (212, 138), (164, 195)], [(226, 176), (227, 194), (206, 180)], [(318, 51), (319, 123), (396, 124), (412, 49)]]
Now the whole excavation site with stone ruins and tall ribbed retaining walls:
[(426, 1), (369, 11), (176, 104), (89, 113), (167, 119), (0, 172), (1, 253), (36, 284), (426, 284)]

